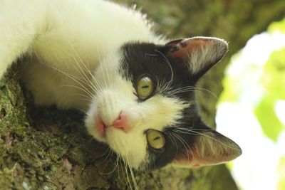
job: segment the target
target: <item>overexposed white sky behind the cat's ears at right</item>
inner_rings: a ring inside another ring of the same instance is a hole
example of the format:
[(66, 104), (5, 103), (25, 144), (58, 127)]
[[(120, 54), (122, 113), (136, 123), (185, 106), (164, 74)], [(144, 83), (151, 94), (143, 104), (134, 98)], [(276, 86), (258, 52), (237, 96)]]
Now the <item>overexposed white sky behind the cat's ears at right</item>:
[[(243, 154), (234, 160), (232, 175), (240, 189), (275, 190), (279, 176), (280, 157), (285, 157), (285, 130), (276, 142), (264, 137), (253, 109), (262, 97), (259, 82), (261, 72), (250, 69), (264, 65), (272, 51), (285, 46), (285, 35), (261, 33), (252, 37), (247, 46), (234, 56), (227, 75), (242, 75), (242, 97), (239, 102), (222, 102), (217, 110), (217, 130), (233, 139), (242, 147)], [(254, 71), (254, 72), (253, 72)], [(280, 100), (275, 111), (285, 125), (285, 101)]]

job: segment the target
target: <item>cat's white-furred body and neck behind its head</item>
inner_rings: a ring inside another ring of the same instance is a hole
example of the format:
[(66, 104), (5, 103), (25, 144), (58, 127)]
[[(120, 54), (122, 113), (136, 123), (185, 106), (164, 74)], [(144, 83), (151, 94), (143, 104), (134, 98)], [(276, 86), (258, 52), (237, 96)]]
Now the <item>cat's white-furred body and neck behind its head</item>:
[[(24, 53), (31, 55), (32, 59), (26, 61), (29, 65), (24, 66), (24, 72), (29, 73), (24, 74), (24, 80), (34, 91), (38, 105), (76, 106), (86, 110), (86, 101), (80, 102), (78, 95), (74, 95), (86, 93), (76, 88), (62, 88), (62, 85), (77, 84), (62, 73), (58, 73), (57, 78), (57, 72), (46, 65), (81, 77), (76, 70), (78, 68), (71, 65), (83, 62), (93, 71), (98, 69), (99, 60), (117, 56), (118, 48), (125, 41), (154, 41), (155, 35), (140, 19), (141, 15), (126, 10), (107, 1), (1, 2), (1, 12), (9, 11), (13, 19), (1, 16), (4, 26), (9, 24), (14, 27), (12, 31), (4, 27), (5, 36), (1, 43), (14, 43), (11, 46), (15, 47), (11, 48), (17, 48), (13, 50), (17, 55), (4, 55), (9, 56), (4, 61), (11, 62), (20, 55), (24, 56)], [(5, 53), (6, 47), (1, 48)], [(0, 72), (5, 70), (3, 66)], [(43, 83), (45, 85), (42, 86)], [(66, 93), (69, 95), (66, 96)]]

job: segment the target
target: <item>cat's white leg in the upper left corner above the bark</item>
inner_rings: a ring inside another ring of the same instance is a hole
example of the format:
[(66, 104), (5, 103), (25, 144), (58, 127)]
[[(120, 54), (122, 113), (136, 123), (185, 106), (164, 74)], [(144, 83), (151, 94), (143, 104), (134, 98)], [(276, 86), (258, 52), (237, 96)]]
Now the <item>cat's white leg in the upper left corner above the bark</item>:
[(11, 63), (28, 53), (44, 26), (45, 1), (2, 0), (0, 6), (0, 78)]

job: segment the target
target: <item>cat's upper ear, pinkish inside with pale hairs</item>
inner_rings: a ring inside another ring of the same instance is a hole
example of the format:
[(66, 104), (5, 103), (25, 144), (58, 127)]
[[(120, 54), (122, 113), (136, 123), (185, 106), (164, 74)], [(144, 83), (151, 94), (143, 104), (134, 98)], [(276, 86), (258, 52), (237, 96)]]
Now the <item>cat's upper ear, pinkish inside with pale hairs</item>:
[(195, 37), (170, 41), (168, 55), (186, 64), (195, 79), (199, 79), (228, 51), (227, 41), (212, 37)]

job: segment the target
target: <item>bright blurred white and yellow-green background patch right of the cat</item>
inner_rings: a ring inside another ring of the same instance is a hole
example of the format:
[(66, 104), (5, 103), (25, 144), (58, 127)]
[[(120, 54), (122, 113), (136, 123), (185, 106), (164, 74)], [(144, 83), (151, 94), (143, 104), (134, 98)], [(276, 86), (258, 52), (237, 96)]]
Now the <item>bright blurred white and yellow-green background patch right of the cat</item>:
[[(285, 19), (232, 56), (217, 105), (217, 130), (243, 149), (229, 163), (240, 189), (285, 189)], [(228, 126), (231, 126), (230, 129)]]

